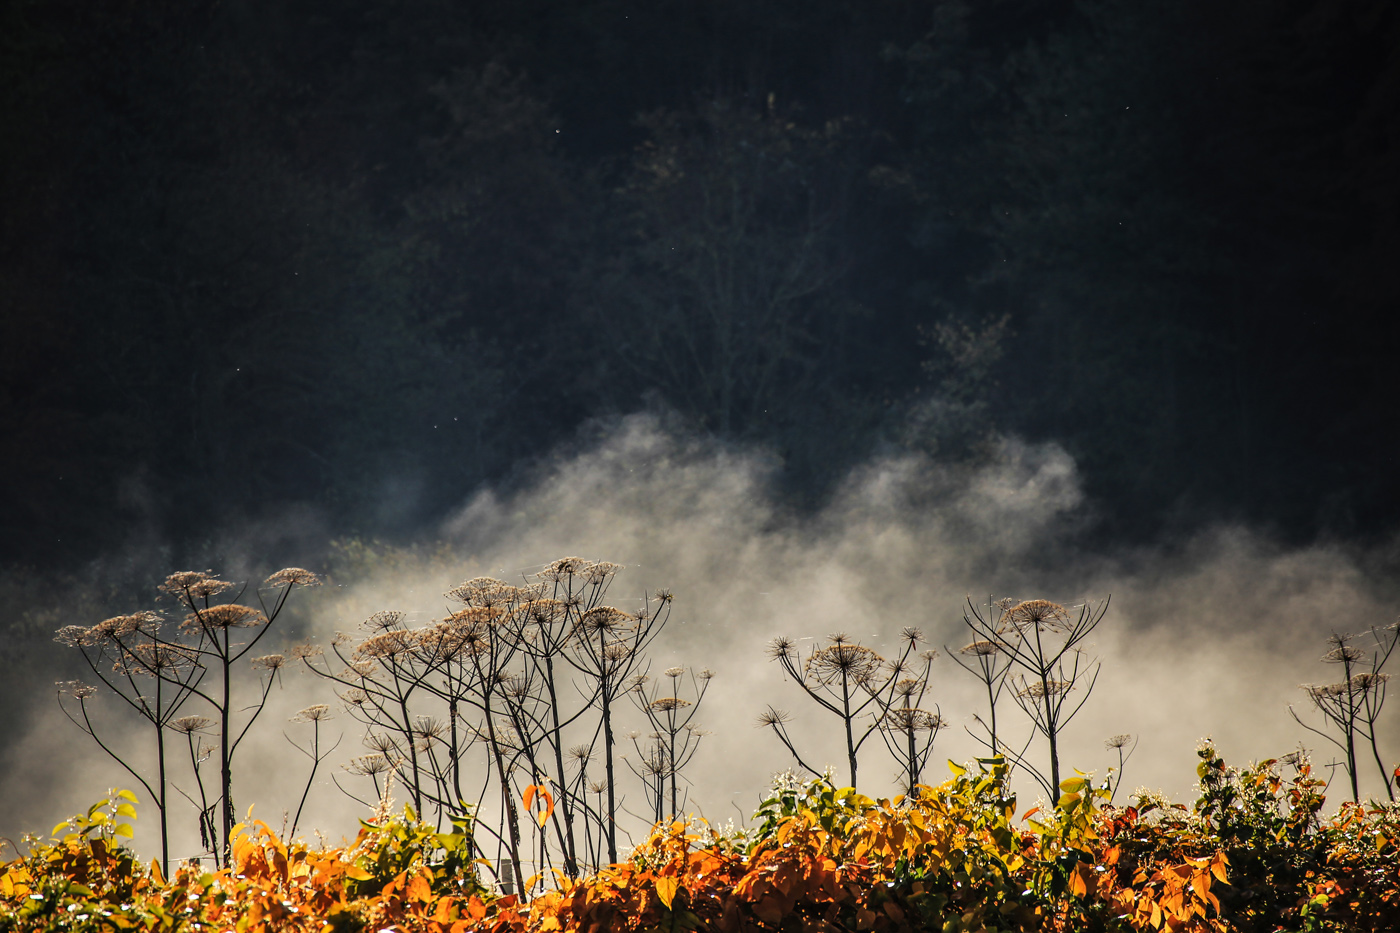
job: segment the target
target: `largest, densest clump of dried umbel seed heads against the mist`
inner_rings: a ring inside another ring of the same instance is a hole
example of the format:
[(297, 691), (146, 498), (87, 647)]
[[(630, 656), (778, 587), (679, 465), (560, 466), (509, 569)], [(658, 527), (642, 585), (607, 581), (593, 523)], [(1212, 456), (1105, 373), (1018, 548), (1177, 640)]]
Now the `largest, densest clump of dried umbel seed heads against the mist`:
[[(595, 843), (616, 860), (616, 703), (671, 607), (665, 591), (634, 612), (605, 605), (620, 569), (564, 558), (522, 586), (477, 577), (447, 594), (461, 608), (416, 629), (402, 612), (375, 614), (367, 637), (339, 636), (330, 646), (339, 671), (315, 647), (294, 651), (337, 685), (367, 728), (372, 754), (347, 769), (370, 778), (377, 796), (392, 778), (414, 811), (437, 822), (498, 806), (498, 824), (477, 818), (476, 827), (501, 849), (522, 892), (533, 884), (528, 850), (542, 870), (557, 859), (566, 877), (578, 876), (580, 855)], [(473, 747), (484, 751), (482, 772), (469, 758)], [(605, 772), (596, 804), (587, 780), (595, 751)], [(533, 818), (522, 820), (522, 808)]]

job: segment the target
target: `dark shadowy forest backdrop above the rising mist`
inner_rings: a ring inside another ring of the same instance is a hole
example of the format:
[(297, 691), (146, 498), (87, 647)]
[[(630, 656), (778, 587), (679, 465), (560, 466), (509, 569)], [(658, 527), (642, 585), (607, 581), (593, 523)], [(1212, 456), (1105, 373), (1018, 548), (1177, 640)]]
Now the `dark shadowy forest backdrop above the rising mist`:
[(1400, 6), (6, 0), (0, 562), (406, 535), (643, 408), (1394, 531)]

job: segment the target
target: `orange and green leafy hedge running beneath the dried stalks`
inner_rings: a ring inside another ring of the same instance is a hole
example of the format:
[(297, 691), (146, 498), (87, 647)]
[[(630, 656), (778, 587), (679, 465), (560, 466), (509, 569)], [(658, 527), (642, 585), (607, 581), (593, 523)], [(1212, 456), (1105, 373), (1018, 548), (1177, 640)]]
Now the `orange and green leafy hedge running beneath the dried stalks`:
[[(1400, 811), (1323, 815), (1305, 759), (1229, 768), (1200, 749), (1194, 806), (1107, 804), (1086, 776), (1018, 811), (1001, 759), (893, 800), (778, 783), (749, 831), (658, 824), (615, 864), (531, 899), (476, 873), (473, 827), (385, 813), (344, 848), (239, 827), (228, 869), (165, 878), (123, 848), (113, 794), (3, 866), (0, 930), (1396, 930)], [(66, 829), (66, 832), (64, 832)], [(532, 885), (533, 888), (533, 885)]]

